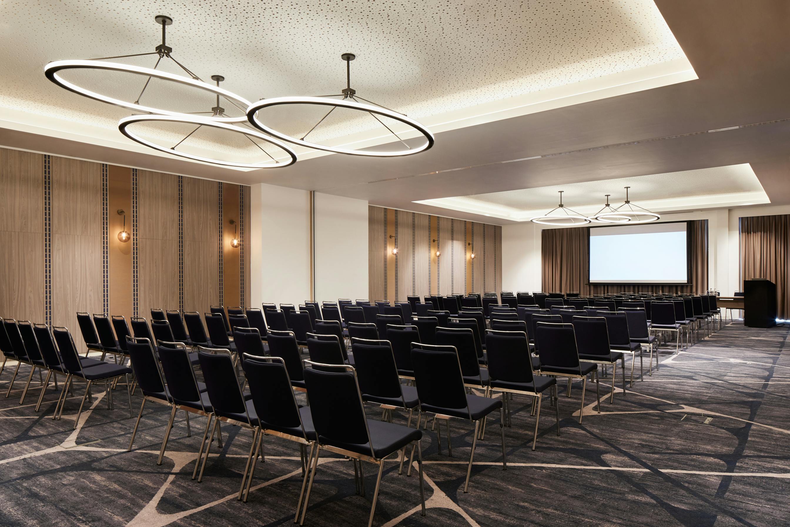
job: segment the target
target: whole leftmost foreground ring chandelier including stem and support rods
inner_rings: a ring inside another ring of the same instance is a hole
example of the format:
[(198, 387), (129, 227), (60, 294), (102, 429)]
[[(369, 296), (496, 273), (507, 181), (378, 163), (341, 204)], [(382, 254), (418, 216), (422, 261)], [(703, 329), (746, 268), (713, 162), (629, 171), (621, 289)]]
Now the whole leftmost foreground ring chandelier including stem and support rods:
[[(171, 81), (176, 82), (181, 85), (191, 86), (193, 88), (199, 88), (206, 92), (211, 92), (216, 94), (217, 97), (222, 96), (228, 101), (231, 102), (235, 107), (238, 107), (241, 111), (246, 111), (246, 107), (250, 106), (250, 101), (244, 99), (241, 96), (236, 95), (233, 92), (229, 92), (224, 88), (220, 88), (219, 86), (212, 86), (207, 82), (204, 82), (192, 73), (191, 70), (187, 69), (183, 66), (179, 61), (175, 60), (171, 56), (172, 48), (166, 45), (165, 40), (165, 28), (172, 24), (173, 21), (171, 17), (165, 17), (164, 15), (158, 15), (156, 18), (156, 24), (162, 25), (162, 43), (156, 46), (156, 51), (152, 51), (150, 53), (137, 53), (133, 55), (119, 55), (115, 57), (103, 57), (103, 58), (91, 58), (88, 60), (58, 60), (55, 62), (50, 62), (47, 66), (44, 66), (44, 75), (47, 78), (54, 82), (56, 85), (60, 86), (61, 88), (65, 88), (70, 92), (77, 93), (81, 96), (89, 97), (93, 100), (98, 100), (103, 103), (107, 104), (114, 104), (115, 106), (120, 106), (124, 108), (128, 108), (129, 110), (140, 111), (143, 113), (148, 114), (159, 114), (159, 115), (180, 115), (180, 116), (189, 116), (189, 113), (179, 112), (179, 111), (171, 111), (165, 108), (156, 108), (146, 106), (145, 104), (140, 104), (140, 99), (145, 93), (146, 88), (149, 86), (149, 82), (151, 78), (157, 78), (164, 81)], [(110, 59), (110, 58), (125, 58), (125, 57), (139, 57), (144, 55), (158, 55), (159, 58), (156, 60), (156, 65), (153, 68), (145, 68), (142, 66), (132, 66), (130, 64), (123, 64), (121, 62), (102, 62), (103, 60)], [(167, 73), (165, 71), (156, 70), (159, 66), (161, 60), (163, 58), (168, 58), (175, 62), (182, 70), (184, 70), (189, 77), (184, 77), (183, 75), (175, 75), (174, 73)], [(115, 71), (119, 73), (133, 73), (136, 75), (141, 75), (148, 77), (145, 81), (145, 85), (142, 86), (140, 94), (137, 96), (137, 99), (134, 101), (130, 100), (121, 100), (115, 99), (115, 97), (106, 96), (101, 93), (94, 92), (89, 90), (88, 88), (83, 88), (80, 85), (74, 84), (73, 82), (66, 81), (61, 75), (58, 73), (63, 70), (108, 70), (108, 71)], [(206, 112), (210, 113), (210, 112)], [(220, 122), (245, 122), (246, 115), (242, 115), (240, 117), (213, 117)]]

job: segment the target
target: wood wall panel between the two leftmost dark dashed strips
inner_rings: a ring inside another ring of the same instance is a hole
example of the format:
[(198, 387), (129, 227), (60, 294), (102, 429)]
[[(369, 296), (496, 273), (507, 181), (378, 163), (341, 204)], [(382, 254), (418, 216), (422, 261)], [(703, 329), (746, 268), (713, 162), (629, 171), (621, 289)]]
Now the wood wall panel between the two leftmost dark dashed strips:
[(101, 164), (52, 157), (52, 324), (85, 342), (77, 311), (103, 312)]

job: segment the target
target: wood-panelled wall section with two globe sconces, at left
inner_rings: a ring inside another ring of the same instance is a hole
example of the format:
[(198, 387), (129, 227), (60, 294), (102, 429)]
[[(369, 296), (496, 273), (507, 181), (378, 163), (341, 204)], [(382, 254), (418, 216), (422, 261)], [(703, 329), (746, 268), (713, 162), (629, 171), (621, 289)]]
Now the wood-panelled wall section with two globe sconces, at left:
[(77, 311), (244, 305), (249, 232), (248, 186), (0, 149), (0, 316), (66, 326), (85, 350)]

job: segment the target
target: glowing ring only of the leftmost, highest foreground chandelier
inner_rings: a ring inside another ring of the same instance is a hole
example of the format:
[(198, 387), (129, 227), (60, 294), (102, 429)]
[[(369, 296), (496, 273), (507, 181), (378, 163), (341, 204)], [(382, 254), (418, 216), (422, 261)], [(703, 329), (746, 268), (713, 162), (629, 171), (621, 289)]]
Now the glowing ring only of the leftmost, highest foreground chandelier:
[[(190, 77), (184, 77), (183, 75), (175, 75), (173, 73), (152, 70), (151, 68), (144, 68), (141, 66), (131, 66), (129, 64), (121, 64), (119, 62), (100, 62), (96, 60), (58, 60), (55, 62), (50, 62), (47, 64), (47, 66), (44, 66), (44, 74), (47, 76), (47, 78), (61, 88), (66, 88), (70, 92), (78, 93), (79, 95), (89, 97), (93, 100), (99, 100), (103, 103), (115, 104), (115, 106), (128, 108), (134, 111), (141, 111), (148, 114), (179, 115), (182, 117), (189, 117), (190, 119), (192, 117), (190, 114), (185, 114), (179, 111), (169, 111), (162, 108), (144, 106), (142, 104), (114, 99), (113, 97), (102, 95), (101, 93), (92, 92), (86, 88), (75, 85), (72, 82), (66, 81), (66, 79), (58, 75), (58, 72), (61, 70), (109, 70), (117, 71), (119, 73), (134, 73), (137, 75), (145, 75), (146, 77), (156, 77), (164, 81), (178, 82), (182, 85), (192, 86), (194, 88), (205, 90), (206, 92), (212, 92), (218, 96), (227, 97), (229, 100), (235, 101), (235, 103), (242, 107), (250, 106), (250, 101), (243, 99), (233, 92), (228, 92), (228, 90), (220, 88), (219, 86), (212, 86), (203, 81), (198, 81)], [(212, 119), (213, 122), (244, 122), (246, 121), (246, 116), (212, 117), (210, 119)]]

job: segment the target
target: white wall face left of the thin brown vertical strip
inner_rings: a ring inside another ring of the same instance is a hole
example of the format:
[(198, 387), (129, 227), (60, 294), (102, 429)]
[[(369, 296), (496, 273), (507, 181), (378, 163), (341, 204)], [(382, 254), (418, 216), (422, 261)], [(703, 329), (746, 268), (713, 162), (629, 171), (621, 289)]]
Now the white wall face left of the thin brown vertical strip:
[(298, 306), (310, 299), (310, 192), (258, 183), (251, 194), (249, 307)]

